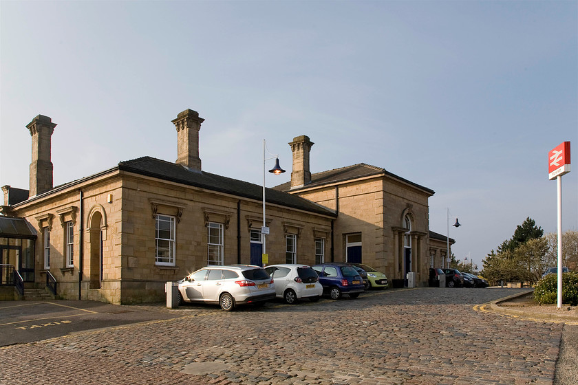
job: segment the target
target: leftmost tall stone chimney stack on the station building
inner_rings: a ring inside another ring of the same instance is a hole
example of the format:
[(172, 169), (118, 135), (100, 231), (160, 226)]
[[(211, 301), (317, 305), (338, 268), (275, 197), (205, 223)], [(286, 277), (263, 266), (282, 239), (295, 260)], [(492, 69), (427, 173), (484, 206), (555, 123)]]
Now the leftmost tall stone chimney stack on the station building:
[(38, 115), (26, 125), (32, 136), (32, 163), (30, 163), (29, 197), (52, 190), (52, 133), (56, 123), (44, 115)]

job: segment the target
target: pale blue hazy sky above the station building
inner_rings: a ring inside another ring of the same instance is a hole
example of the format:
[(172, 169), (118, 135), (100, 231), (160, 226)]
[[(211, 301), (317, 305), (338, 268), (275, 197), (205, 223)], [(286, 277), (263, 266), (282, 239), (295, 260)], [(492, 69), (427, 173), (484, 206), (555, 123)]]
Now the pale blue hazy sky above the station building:
[[(430, 230), (481, 268), (526, 217), (557, 231), (547, 158), (578, 159), (577, 58), (578, 1), (0, 0), (0, 186), (28, 189), (36, 115), (58, 124), (58, 186), (174, 162), (193, 109), (203, 170), (261, 185), (263, 140), (290, 171), (308, 135), (312, 173), (363, 162), (434, 190)], [(578, 166), (562, 211), (578, 230)]]

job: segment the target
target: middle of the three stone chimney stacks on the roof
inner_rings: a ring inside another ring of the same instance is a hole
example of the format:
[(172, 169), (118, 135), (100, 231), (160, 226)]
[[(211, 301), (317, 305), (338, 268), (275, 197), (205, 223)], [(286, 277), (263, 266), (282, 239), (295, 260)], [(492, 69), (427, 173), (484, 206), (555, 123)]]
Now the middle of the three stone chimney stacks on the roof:
[(199, 157), (199, 131), (203, 118), (192, 109), (186, 109), (172, 121), (177, 128), (177, 164), (182, 164), (190, 170), (201, 171)]

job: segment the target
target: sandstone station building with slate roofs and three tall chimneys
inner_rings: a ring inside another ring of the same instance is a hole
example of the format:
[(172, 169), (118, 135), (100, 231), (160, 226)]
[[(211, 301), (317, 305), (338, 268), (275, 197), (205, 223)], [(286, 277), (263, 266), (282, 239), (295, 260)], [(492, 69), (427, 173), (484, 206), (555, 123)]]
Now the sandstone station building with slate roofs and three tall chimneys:
[[(202, 170), (203, 121), (190, 109), (172, 121), (176, 162), (140, 157), (54, 187), (56, 124), (36, 116), (30, 188), (2, 187), (3, 283), (12, 266), (24, 287), (54, 281), (61, 298), (141, 303), (205, 265), (260, 265), (262, 186)], [(290, 182), (266, 189), (268, 263), (362, 262), (396, 285), (407, 272), (427, 285), (447, 254), (429, 231), (434, 191), (367, 164), (311, 174), (312, 145), (295, 137)]]

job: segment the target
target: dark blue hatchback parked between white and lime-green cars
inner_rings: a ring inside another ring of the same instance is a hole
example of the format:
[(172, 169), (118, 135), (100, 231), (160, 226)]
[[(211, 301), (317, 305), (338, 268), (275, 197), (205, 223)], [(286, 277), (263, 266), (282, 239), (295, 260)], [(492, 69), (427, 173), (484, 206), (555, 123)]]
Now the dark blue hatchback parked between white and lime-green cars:
[(319, 275), (319, 282), (323, 285), (323, 294), (329, 294), (334, 300), (347, 294), (357, 298), (363, 293), (363, 279), (353, 267), (345, 263), (321, 263), (312, 266)]

